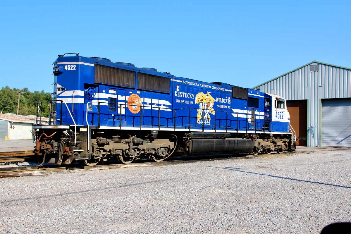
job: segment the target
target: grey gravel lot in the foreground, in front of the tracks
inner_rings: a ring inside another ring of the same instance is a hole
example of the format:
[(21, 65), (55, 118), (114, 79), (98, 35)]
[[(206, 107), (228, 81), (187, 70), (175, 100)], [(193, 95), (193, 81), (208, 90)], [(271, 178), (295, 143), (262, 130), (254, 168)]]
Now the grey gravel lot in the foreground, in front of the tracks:
[(351, 151), (0, 179), (0, 233), (319, 233), (351, 221)]

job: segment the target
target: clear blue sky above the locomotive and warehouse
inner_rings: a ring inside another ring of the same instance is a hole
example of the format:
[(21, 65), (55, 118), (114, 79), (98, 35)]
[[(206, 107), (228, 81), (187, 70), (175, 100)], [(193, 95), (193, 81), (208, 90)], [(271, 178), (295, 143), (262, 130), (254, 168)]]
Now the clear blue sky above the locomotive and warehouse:
[(351, 1), (1, 1), (0, 86), (52, 92), (79, 52), (253, 87), (313, 60), (351, 67)]

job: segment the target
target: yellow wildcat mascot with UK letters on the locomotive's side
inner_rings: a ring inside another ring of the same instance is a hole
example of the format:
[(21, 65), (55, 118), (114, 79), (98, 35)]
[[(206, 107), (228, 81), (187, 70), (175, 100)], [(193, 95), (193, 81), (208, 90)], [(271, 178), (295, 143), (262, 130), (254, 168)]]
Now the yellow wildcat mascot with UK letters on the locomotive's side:
[(216, 100), (206, 91), (196, 94), (195, 103), (199, 103), (199, 109), (197, 110), (197, 123), (200, 124), (210, 124), (211, 116), (210, 113), (214, 115), (213, 102)]

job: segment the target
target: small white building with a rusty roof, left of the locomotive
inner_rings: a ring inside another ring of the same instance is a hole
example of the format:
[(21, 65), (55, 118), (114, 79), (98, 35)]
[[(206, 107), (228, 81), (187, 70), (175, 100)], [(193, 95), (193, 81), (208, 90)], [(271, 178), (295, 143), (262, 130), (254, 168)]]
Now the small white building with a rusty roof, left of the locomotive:
[[(32, 139), (32, 127), (35, 115), (16, 115), (0, 113), (0, 140)], [(40, 118), (38, 117), (38, 123)], [(41, 118), (41, 122), (48, 123), (49, 118)]]

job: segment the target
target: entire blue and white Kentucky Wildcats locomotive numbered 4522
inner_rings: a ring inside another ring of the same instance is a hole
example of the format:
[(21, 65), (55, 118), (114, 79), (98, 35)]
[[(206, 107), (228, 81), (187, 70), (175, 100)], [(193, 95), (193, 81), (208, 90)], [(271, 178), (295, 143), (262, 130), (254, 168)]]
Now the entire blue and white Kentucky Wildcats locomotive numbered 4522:
[(42, 125), (38, 117), (33, 126), (34, 153), (43, 163), (130, 163), (295, 148), (280, 96), (79, 53), (59, 55), (53, 65), (53, 121)]

